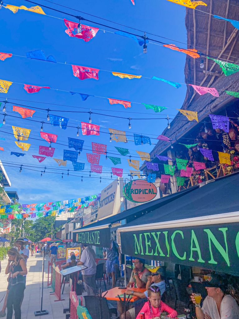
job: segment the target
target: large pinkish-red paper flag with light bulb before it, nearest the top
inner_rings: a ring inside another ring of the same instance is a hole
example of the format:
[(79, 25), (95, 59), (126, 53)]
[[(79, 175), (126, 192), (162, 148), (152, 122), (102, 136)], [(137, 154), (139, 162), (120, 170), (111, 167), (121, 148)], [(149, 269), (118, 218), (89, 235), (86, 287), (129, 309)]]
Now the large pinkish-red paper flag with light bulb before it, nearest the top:
[[(67, 27), (67, 30), (65, 30), (65, 33), (67, 33), (70, 37), (82, 39), (85, 42), (88, 42), (92, 38), (94, 38), (96, 36), (96, 33), (99, 31), (98, 28), (95, 28), (95, 27), (93, 28), (92, 26), (85, 26), (83, 24), (69, 21), (66, 19), (64, 19), (64, 23)], [(78, 32), (79, 25), (81, 26), (80, 32)]]

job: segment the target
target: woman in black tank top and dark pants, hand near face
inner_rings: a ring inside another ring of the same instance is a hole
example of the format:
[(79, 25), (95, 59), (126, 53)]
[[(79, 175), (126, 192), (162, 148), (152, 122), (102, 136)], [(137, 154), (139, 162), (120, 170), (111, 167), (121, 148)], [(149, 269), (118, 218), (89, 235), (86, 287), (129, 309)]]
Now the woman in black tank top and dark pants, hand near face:
[(5, 274), (10, 274), (7, 319), (12, 319), (13, 309), (15, 311), (15, 319), (21, 319), (21, 301), (26, 287), (26, 264), (17, 249), (11, 248), (7, 254), (9, 259)]

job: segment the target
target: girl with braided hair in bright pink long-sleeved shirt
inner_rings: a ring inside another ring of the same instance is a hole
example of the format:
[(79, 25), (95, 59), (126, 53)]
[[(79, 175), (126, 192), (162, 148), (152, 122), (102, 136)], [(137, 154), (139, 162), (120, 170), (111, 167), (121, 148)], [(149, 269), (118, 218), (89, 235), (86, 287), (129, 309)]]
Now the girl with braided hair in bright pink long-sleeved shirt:
[(151, 286), (148, 289), (148, 302), (144, 304), (136, 319), (140, 318), (141, 312), (144, 312), (145, 319), (160, 319), (160, 315), (163, 311), (166, 311), (170, 318), (175, 318), (177, 316), (177, 311), (173, 310), (161, 301), (159, 287)]

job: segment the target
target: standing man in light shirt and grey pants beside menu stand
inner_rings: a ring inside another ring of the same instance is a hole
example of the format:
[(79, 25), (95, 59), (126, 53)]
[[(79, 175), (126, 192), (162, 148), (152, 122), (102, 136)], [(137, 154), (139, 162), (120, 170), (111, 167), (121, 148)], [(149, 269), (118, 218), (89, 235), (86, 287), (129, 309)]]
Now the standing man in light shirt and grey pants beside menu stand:
[(81, 253), (80, 261), (77, 263), (77, 265), (84, 265), (88, 267), (87, 269), (81, 271), (83, 276), (83, 281), (84, 281), (84, 287), (88, 296), (94, 296), (97, 294), (96, 282), (95, 282), (96, 254), (94, 250), (86, 244), (83, 244), (83, 248), (84, 249)]

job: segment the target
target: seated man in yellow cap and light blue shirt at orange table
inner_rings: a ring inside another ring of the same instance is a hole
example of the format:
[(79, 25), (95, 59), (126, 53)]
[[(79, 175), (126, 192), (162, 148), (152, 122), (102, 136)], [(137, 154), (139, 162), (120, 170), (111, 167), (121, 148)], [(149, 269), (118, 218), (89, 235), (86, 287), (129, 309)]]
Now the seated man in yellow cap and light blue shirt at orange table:
[[(151, 275), (148, 276), (148, 281), (146, 283), (146, 291), (144, 293), (140, 293), (137, 291), (131, 291), (130, 288), (127, 289), (126, 293), (137, 296), (139, 298), (148, 298), (148, 288), (151, 286), (159, 287), (161, 296), (166, 290), (165, 281), (164, 281), (164, 271), (163, 268), (157, 266), (155, 268), (148, 269), (151, 272)], [(135, 318), (135, 309), (129, 309), (126, 312), (126, 319), (134, 319)]]

